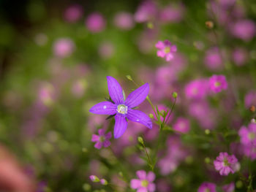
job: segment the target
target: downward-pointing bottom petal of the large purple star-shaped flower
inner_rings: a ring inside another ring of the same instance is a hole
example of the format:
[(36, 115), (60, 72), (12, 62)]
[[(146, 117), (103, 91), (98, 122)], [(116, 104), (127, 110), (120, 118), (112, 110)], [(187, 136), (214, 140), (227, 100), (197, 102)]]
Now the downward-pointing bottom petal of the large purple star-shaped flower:
[(124, 134), (124, 131), (127, 130), (127, 120), (122, 114), (116, 114), (115, 116), (116, 123), (114, 127), (114, 138), (121, 137)]

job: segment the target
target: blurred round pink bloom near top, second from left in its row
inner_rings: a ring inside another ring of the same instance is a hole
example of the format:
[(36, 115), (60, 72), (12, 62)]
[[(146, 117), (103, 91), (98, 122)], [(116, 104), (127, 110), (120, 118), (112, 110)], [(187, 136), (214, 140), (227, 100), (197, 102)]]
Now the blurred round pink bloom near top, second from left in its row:
[(86, 27), (92, 33), (99, 33), (100, 31), (103, 31), (105, 29), (105, 25), (105, 19), (98, 12), (91, 13), (91, 15), (86, 19)]

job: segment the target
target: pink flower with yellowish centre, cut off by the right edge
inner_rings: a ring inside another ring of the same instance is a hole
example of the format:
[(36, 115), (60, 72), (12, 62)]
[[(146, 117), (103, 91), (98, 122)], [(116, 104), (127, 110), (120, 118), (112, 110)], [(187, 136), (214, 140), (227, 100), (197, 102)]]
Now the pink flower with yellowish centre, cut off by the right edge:
[(248, 128), (242, 126), (238, 132), (241, 144), (256, 146), (256, 123), (250, 123)]

